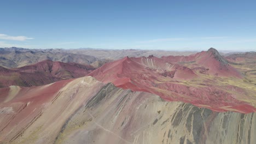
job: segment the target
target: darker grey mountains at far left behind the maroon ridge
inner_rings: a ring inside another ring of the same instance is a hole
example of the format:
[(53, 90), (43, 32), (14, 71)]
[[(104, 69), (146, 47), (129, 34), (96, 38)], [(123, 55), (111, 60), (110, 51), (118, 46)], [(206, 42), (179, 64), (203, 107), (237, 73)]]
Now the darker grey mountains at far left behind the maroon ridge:
[(94, 56), (68, 53), (60, 49), (30, 50), (11, 47), (0, 51), (0, 65), (5, 68), (23, 67), (45, 60), (91, 64), (99, 59)]

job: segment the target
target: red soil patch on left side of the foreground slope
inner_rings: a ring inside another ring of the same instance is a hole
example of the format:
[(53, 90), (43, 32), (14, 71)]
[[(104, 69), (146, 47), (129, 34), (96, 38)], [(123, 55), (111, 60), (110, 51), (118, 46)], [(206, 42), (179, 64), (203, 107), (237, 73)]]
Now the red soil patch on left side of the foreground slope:
[[(48, 106), (45, 104), (54, 103), (54, 99), (58, 96), (60, 89), (72, 80), (74, 79), (63, 80), (39, 87), (20, 87), (20, 91), (14, 95), (11, 94), (9, 87), (0, 88), (1, 108), (11, 107), (13, 113), (10, 114), (15, 114), (5, 115), (6, 117), (1, 121), (0, 130), (4, 129), (2, 132), (8, 133), (11, 130), (15, 130), (13, 125), (15, 127), (21, 127), (20, 125), (27, 125), (27, 122), (33, 122), (34, 119), (42, 114), (44, 106)], [(9, 99), (10, 101), (3, 102), (7, 99), (8, 95), (13, 98)]]

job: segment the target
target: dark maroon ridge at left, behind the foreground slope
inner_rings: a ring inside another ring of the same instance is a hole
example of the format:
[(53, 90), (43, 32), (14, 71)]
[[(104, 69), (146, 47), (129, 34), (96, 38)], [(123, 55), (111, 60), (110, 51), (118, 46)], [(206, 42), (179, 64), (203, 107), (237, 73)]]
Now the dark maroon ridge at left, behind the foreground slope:
[(0, 67), (0, 87), (45, 85), (59, 80), (83, 77), (94, 69), (91, 65), (49, 60), (15, 69)]

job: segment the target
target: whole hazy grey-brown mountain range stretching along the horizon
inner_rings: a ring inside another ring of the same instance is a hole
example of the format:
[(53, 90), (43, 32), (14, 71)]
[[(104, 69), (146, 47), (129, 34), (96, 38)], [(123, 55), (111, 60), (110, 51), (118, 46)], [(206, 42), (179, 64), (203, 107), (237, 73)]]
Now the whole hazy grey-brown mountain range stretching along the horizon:
[(125, 56), (141, 57), (155, 55), (190, 55), (195, 52), (173, 52), (154, 50), (103, 50), (103, 49), (23, 49), (20, 47), (0, 48), (0, 65), (5, 68), (23, 67), (40, 61), (51, 60), (91, 64), (95, 61), (105, 63)]

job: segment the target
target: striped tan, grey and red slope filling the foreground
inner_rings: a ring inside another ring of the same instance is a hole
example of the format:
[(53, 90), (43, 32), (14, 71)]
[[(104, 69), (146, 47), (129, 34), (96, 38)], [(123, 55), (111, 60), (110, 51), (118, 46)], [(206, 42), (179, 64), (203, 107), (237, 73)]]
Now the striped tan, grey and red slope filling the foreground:
[(214, 112), (93, 77), (0, 89), (1, 143), (254, 143), (254, 113)]

